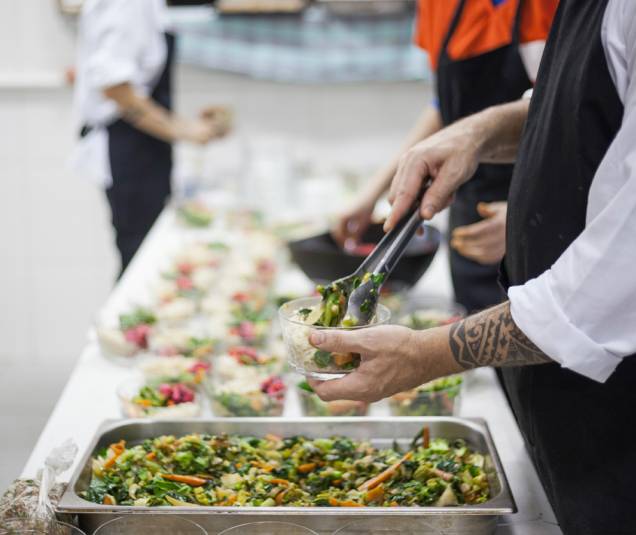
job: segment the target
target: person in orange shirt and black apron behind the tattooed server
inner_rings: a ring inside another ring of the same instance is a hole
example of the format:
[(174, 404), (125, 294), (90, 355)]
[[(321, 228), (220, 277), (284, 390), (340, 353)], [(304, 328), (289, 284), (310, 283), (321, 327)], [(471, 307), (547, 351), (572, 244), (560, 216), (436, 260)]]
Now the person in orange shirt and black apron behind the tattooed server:
[[(380, 169), (334, 229), (348, 247), (360, 239), (400, 158), (416, 143), (462, 117), (521, 98), (532, 87), (558, 0), (418, 0), (415, 42), (436, 74), (428, 105), (396, 157)], [(511, 165), (482, 164), (450, 208), (450, 267), (455, 299), (468, 311), (504, 297), (504, 255)]]

